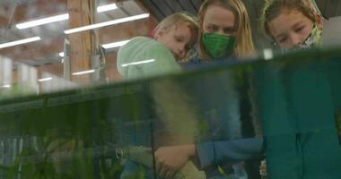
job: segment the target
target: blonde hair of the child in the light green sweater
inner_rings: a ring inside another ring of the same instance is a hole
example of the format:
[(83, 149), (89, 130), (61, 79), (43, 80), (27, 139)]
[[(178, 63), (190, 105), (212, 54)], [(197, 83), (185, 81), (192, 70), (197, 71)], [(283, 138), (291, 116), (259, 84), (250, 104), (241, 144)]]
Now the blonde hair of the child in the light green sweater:
[(192, 38), (197, 39), (199, 25), (197, 18), (189, 13), (173, 13), (164, 18), (153, 30), (153, 35), (158, 34), (161, 30), (170, 30), (170, 28), (177, 28), (179, 24), (188, 22), (189, 30)]

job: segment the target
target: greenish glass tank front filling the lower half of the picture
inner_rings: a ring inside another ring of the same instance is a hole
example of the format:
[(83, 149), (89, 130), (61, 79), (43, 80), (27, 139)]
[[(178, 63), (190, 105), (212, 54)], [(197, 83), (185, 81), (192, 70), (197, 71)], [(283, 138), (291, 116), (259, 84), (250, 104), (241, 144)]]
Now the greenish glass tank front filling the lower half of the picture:
[(268, 177), (337, 177), (339, 58), (311, 50), (2, 100), (2, 175), (155, 178), (157, 151), (196, 144), (174, 177), (256, 177), (261, 148)]

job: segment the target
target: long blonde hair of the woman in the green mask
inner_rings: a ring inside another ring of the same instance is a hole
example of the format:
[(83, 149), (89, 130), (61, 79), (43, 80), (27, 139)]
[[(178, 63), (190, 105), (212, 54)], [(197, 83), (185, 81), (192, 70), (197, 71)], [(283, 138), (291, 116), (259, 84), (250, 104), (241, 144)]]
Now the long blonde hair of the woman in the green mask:
[[(236, 47), (234, 47), (232, 55), (235, 57), (242, 57), (254, 53), (255, 47), (253, 46), (252, 42), (249, 15), (245, 8), (245, 5), (241, 2), (241, 0), (205, 0), (205, 2), (201, 4), (198, 13), (198, 21), (201, 29), (203, 28), (205, 13), (210, 5), (218, 5), (229, 11), (232, 11), (234, 16), (236, 17), (236, 21), (234, 21), (234, 26), (237, 29)], [(200, 30), (198, 39), (199, 55), (205, 60), (211, 60), (212, 57), (205, 49), (202, 41), (202, 36), (203, 30)]]

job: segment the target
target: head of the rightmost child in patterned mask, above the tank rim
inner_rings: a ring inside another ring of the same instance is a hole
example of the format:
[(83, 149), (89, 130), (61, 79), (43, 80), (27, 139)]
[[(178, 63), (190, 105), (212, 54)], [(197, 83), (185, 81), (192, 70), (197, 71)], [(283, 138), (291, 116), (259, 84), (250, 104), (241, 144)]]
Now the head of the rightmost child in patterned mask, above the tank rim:
[(319, 47), (323, 21), (310, 0), (267, 1), (262, 28), (284, 49)]

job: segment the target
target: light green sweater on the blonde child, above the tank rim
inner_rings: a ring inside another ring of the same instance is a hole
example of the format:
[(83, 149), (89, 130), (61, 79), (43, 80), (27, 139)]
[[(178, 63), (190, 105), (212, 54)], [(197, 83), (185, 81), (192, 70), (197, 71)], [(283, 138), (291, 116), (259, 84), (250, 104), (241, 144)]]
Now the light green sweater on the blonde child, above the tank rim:
[(180, 71), (170, 49), (144, 37), (133, 38), (119, 48), (117, 66), (118, 72), (129, 80)]

